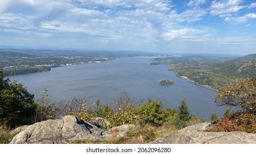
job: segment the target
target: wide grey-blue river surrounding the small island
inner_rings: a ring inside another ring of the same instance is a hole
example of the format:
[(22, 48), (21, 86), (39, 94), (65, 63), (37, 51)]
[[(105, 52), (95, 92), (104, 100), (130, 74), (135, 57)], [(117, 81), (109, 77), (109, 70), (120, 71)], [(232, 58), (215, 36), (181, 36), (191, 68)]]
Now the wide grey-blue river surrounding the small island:
[[(71, 100), (87, 97), (89, 105), (98, 98), (101, 104), (117, 99), (126, 91), (136, 101), (153, 99), (162, 101), (163, 107), (177, 108), (184, 97), (191, 112), (206, 120), (211, 114), (223, 116), (226, 108), (217, 108), (213, 95), (216, 92), (188, 82), (166, 64), (150, 65), (153, 57), (119, 58), (104, 63), (91, 63), (52, 68), (42, 73), (9, 76), (13, 81), (24, 84), (30, 94), (39, 99), (47, 89), (52, 100)], [(175, 84), (160, 85), (161, 80), (172, 80)]]

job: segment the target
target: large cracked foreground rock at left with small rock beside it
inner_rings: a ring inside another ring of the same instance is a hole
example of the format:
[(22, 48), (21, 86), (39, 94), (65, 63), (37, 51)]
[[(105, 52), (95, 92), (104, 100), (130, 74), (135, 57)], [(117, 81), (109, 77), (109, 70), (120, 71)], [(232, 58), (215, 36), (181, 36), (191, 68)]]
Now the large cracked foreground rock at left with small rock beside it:
[[(124, 136), (124, 132), (134, 128), (134, 125), (122, 127), (117, 131)], [(86, 123), (76, 116), (65, 116), (60, 120), (47, 120), (22, 129), (18, 135), (14, 136), (11, 144), (25, 143), (68, 143), (77, 141), (109, 141), (112, 137), (111, 130), (105, 131)]]

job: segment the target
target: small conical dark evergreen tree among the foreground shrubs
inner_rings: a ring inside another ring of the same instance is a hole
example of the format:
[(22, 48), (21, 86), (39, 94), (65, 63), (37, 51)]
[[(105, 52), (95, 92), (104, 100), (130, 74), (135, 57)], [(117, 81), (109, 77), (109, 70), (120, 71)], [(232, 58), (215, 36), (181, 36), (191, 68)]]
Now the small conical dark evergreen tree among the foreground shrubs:
[(179, 109), (178, 118), (182, 121), (188, 121), (188, 120), (191, 120), (192, 118), (192, 115), (191, 115), (190, 109), (187, 106), (186, 100), (187, 98), (185, 97), (182, 100), (181, 105), (178, 107)]

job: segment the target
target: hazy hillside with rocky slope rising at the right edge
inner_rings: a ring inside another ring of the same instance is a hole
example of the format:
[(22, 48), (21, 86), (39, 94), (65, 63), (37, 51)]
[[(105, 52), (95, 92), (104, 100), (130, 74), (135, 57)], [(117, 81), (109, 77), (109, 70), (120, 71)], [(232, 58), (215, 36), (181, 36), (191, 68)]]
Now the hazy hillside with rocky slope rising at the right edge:
[(249, 54), (237, 59), (217, 64), (217, 72), (233, 78), (256, 76), (256, 54)]

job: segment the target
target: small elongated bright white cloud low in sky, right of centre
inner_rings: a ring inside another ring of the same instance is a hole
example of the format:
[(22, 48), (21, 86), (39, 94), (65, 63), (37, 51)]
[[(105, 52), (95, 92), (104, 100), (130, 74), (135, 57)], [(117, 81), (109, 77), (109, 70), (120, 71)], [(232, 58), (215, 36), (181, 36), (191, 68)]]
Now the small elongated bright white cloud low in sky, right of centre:
[(178, 30), (170, 30), (162, 34), (162, 37), (166, 40), (175, 40), (179, 38), (191, 38), (191, 35), (199, 33), (199, 30), (192, 28), (183, 28)]

